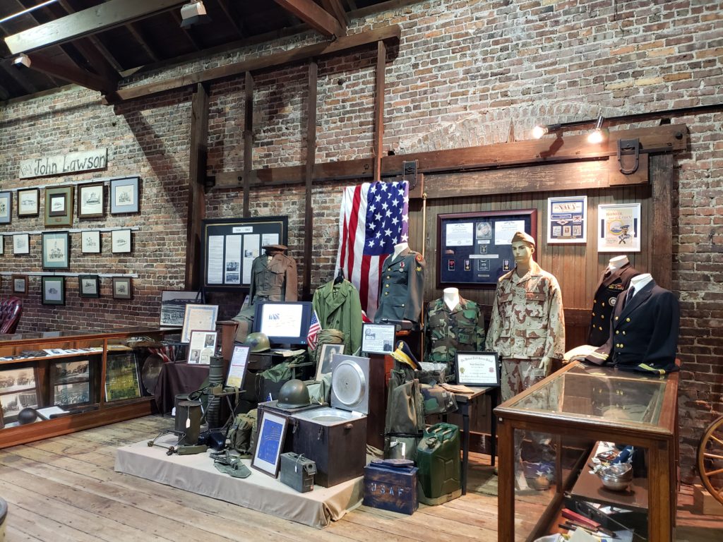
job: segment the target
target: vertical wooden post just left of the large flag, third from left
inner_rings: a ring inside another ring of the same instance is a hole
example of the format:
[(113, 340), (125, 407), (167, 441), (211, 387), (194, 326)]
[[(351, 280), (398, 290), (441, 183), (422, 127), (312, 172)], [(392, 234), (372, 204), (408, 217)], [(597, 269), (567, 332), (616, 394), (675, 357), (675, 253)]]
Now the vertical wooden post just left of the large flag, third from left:
[(314, 164), (316, 163), (316, 113), (318, 93), (317, 62), (309, 63), (309, 100), (307, 102), (307, 161), (304, 164), (304, 181), (306, 182), (306, 205), (304, 210), (304, 280), (301, 285), (301, 296), (304, 301), (311, 301), (312, 295), (312, 248), (314, 245), (314, 207), (312, 207), (312, 183), (314, 182)]

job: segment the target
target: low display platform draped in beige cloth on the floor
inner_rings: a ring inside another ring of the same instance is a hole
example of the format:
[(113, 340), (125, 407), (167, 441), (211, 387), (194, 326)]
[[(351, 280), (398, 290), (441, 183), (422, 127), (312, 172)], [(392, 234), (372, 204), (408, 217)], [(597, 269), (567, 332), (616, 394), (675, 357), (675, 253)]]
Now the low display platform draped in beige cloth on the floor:
[[(176, 436), (166, 435), (156, 444), (167, 448), (176, 444), (176, 440)], [(361, 477), (330, 488), (314, 486), (313, 491), (298, 493), (252, 468), (250, 460), (243, 462), (251, 469), (251, 476), (233, 478), (215, 469), (208, 452), (168, 456), (166, 449), (148, 447), (144, 440), (118, 449), (115, 470), (315, 528), (341, 519), (361, 504), (364, 491)]]

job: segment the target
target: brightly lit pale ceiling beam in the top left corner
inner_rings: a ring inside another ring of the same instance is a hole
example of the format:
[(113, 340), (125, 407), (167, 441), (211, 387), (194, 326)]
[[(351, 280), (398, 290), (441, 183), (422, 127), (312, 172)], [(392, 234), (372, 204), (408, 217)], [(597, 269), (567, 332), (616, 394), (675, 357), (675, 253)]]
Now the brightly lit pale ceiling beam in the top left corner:
[(14, 54), (59, 45), (103, 30), (127, 25), (184, 4), (185, 0), (110, 0), (5, 38)]

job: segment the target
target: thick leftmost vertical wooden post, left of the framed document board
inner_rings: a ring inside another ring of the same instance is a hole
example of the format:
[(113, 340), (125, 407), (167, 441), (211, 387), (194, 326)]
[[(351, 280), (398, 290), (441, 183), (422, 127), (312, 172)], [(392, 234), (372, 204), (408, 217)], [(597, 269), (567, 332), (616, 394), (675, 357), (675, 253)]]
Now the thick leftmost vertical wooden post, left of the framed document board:
[(186, 239), (187, 290), (201, 281), (201, 225), (205, 216), (206, 158), (208, 156), (208, 89), (196, 85), (191, 104), (191, 158), (189, 161), (188, 221)]

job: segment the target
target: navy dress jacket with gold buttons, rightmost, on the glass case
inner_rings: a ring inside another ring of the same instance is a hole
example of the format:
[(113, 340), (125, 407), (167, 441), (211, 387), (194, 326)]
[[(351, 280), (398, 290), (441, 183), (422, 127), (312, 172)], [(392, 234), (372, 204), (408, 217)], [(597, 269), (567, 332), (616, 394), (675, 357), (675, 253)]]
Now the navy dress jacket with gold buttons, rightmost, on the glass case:
[(680, 308), (675, 295), (650, 280), (626, 303), (617, 296), (607, 343), (586, 361), (618, 369), (664, 374), (677, 371)]

